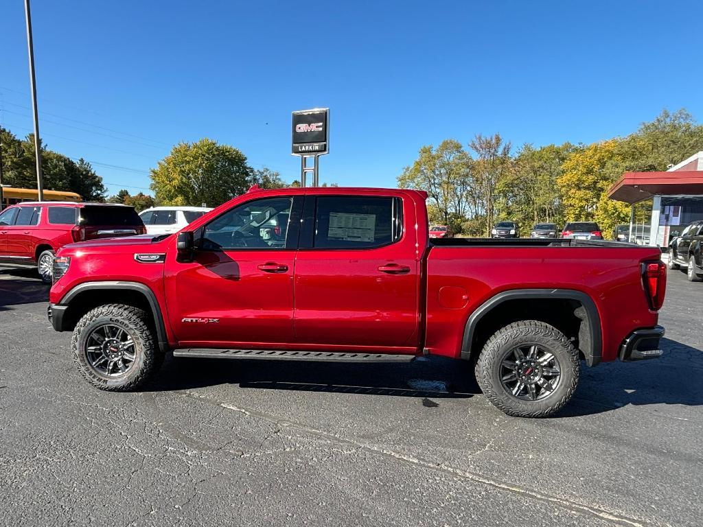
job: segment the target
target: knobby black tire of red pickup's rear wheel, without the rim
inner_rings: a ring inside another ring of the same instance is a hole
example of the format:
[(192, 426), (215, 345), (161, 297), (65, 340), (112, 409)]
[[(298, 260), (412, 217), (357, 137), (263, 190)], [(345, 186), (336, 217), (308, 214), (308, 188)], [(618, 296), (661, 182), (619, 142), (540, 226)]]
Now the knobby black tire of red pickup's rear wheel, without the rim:
[[(501, 383), (501, 360), (517, 346), (537, 344), (555, 356), (561, 379), (553, 393), (537, 401), (524, 401), (509, 393)], [(496, 408), (513, 417), (548, 417), (559, 411), (574, 395), (579, 383), (579, 351), (555, 327), (538, 320), (522, 320), (498, 330), (481, 351), (476, 363), (476, 380)]]

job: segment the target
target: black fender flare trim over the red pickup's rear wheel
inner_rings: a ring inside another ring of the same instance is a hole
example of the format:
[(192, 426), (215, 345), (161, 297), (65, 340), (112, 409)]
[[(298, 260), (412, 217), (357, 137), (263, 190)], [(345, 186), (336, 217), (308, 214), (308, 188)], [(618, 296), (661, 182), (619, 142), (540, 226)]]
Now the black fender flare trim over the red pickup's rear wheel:
[(476, 308), (466, 320), (461, 346), (461, 358), (470, 358), (472, 351), (471, 341), (476, 327), (482, 318), (490, 313), (496, 306), (503, 304), (503, 302), (519, 299), (567, 299), (578, 301), (586, 311), (589, 337), (591, 338), (590, 349), (581, 349), (581, 351), (583, 351), (583, 355), (586, 356), (586, 363), (589, 366), (595, 366), (600, 363), (603, 344), (598, 308), (588, 294), (574, 289), (510, 289), (509, 291), (503, 291), (484, 301), (484, 303)]

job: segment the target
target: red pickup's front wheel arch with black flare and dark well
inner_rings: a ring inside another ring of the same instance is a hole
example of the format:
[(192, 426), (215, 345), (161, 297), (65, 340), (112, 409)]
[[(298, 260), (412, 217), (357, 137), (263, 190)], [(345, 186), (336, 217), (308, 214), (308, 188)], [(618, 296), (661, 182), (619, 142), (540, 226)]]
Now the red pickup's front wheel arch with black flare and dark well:
[[(127, 304), (142, 308), (150, 315), (159, 349), (169, 349), (166, 325), (154, 292), (140, 282), (85, 282), (73, 287), (60, 301), (63, 306), (60, 330), (71, 331), (78, 320), (91, 309), (103, 304)], [(53, 311), (58, 306), (53, 306)]]

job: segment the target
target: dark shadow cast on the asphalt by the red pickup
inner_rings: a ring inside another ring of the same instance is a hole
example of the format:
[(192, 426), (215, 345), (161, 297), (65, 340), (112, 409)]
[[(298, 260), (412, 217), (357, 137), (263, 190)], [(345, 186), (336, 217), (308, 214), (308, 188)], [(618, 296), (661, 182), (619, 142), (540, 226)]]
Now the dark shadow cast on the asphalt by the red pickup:
[[(671, 339), (664, 356), (641, 363), (583, 365), (576, 394), (553, 418), (580, 417), (626, 405), (703, 405), (703, 351)], [(219, 384), (246, 389), (470, 398), (481, 391), (469, 363), (418, 358), (410, 363), (315, 363), (278, 360), (172, 358), (145, 391), (179, 391)], [(427, 403), (425, 403), (427, 401)]]

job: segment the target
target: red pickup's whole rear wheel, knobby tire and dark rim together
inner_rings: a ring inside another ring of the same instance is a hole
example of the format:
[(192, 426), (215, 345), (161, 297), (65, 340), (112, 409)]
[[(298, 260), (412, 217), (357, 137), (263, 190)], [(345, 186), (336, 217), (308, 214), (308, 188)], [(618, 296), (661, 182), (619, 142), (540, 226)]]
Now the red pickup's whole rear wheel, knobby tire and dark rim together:
[(579, 351), (555, 327), (523, 320), (498, 330), (484, 346), (476, 379), (496, 407), (515, 417), (547, 417), (572, 398)]

